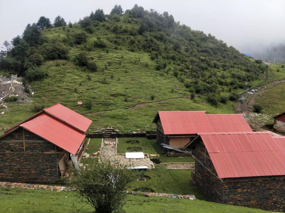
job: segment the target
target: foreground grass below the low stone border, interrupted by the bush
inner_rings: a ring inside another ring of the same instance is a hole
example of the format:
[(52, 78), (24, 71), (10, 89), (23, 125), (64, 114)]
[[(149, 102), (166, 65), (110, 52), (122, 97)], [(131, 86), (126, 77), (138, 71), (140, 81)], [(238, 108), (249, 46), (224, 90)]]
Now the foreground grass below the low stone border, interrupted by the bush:
[[(84, 203), (79, 202), (74, 192), (46, 191), (42, 189), (19, 189), (0, 187), (0, 212), (77, 212)], [(206, 202), (201, 200), (171, 199), (127, 195), (125, 212), (265, 212), (259, 209), (245, 208)], [(89, 205), (80, 212), (93, 212)]]

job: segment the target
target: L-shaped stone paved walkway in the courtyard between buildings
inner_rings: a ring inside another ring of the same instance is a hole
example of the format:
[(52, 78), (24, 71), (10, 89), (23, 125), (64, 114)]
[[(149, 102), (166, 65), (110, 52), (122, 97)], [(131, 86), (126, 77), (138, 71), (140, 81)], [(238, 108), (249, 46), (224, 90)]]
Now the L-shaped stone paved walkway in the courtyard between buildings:
[(153, 162), (144, 155), (144, 158), (141, 159), (127, 159), (125, 154), (123, 155), (116, 155), (116, 139), (115, 138), (104, 138), (101, 153), (100, 153), (100, 160), (110, 160), (111, 163), (117, 164), (126, 164), (131, 166), (147, 166), (147, 168), (152, 169), (154, 168)]

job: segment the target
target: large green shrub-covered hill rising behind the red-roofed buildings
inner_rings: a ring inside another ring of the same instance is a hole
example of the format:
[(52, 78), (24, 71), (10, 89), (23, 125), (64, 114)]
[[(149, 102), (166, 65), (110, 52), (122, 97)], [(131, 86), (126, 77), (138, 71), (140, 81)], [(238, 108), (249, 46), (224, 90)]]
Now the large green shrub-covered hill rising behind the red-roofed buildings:
[[(92, 119), (90, 131), (103, 127), (121, 132), (152, 131), (155, 125), (151, 122), (158, 110), (234, 113), (236, 97), (231, 101), (230, 96), (245, 90), (245, 82), (257, 85), (273, 75), (270, 68), (210, 34), (176, 22), (164, 28), (167, 17), (157, 12), (142, 16), (134, 12), (112, 14), (103, 22), (85, 17), (72, 28), (40, 31), (38, 44), (25, 40), (26, 28), (22, 37), (28, 44), (23, 65), (26, 68), (21, 70), (13, 65), (13, 61), (19, 60), (18, 44), (1, 59), (0, 69), (2, 75), (18, 72), (30, 79), (32, 103), (7, 103), (0, 127), (27, 118), (35, 113), (34, 106), (61, 103)], [(82, 34), (86, 39), (79, 44), (77, 39)], [(60, 51), (58, 47), (67, 54), (51, 56)], [(44, 60), (31, 67), (27, 61), (34, 61), (35, 54)], [(86, 57), (86, 65), (78, 59), (80, 54)], [(89, 68), (92, 62), (96, 63), (95, 72)], [(30, 72), (34, 70), (46, 76), (42, 80), (31, 79)], [(92, 108), (77, 105), (78, 101), (91, 101)]]

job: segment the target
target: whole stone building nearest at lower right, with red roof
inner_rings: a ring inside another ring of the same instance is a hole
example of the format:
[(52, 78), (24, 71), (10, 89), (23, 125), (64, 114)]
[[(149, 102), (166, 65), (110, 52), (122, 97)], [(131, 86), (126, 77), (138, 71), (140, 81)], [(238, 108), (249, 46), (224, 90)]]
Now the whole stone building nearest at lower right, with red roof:
[(197, 133), (195, 174), (213, 202), (285, 211), (285, 137), (270, 132)]

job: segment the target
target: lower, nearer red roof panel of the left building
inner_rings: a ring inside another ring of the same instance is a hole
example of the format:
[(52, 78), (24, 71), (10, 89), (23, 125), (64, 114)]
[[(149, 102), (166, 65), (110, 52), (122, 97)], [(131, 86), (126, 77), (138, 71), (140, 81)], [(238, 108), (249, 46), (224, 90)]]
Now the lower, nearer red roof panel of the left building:
[(76, 154), (85, 138), (81, 131), (48, 114), (42, 114), (20, 126), (72, 154)]

